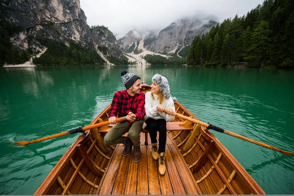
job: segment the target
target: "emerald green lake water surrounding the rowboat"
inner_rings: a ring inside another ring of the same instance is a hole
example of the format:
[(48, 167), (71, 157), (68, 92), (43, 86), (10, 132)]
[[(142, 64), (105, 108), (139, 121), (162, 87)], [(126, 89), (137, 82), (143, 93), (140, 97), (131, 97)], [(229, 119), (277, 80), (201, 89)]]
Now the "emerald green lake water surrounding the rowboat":
[[(294, 151), (294, 70), (186, 66), (0, 68), (0, 195), (32, 195), (78, 135), (16, 147), (88, 125), (124, 89), (120, 72), (169, 79), (200, 121)], [(267, 194), (294, 194), (294, 156), (213, 132)]]

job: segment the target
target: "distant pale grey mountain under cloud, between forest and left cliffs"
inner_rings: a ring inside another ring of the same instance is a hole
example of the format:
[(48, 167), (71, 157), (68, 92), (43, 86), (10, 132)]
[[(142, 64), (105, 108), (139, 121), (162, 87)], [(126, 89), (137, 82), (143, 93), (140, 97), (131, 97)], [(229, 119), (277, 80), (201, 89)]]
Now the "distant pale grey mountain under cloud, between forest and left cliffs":
[(197, 19), (181, 19), (162, 29), (159, 33), (144, 32), (140, 34), (135, 30), (129, 31), (118, 40), (121, 49), (127, 53), (139, 53), (148, 50), (155, 53), (170, 54), (185, 57), (196, 35), (210, 31), (215, 21)]

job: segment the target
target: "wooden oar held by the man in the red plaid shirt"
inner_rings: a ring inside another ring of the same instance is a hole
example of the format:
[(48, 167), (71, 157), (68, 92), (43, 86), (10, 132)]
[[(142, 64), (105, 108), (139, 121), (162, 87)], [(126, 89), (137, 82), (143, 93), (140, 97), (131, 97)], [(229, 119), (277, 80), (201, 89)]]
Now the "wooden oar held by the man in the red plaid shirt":
[[(121, 117), (121, 118), (116, 119), (117, 123), (123, 122), (123, 121), (126, 121), (126, 117)], [(90, 124), (88, 126), (81, 126), (81, 127), (74, 128), (74, 129), (69, 130), (69, 131), (64, 131), (64, 132), (61, 132), (61, 133), (57, 133), (55, 135), (51, 135), (51, 136), (48, 136), (48, 137), (39, 138), (39, 139), (36, 139), (36, 140), (31, 140), (31, 141), (15, 142), (13, 144), (14, 145), (19, 145), (19, 146), (25, 146), (25, 145), (29, 145), (29, 144), (32, 144), (32, 143), (42, 142), (44, 140), (49, 140), (49, 139), (52, 139), (52, 138), (57, 138), (57, 137), (65, 136), (65, 135), (70, 135), (70, 134), (74, 134), (74, 133), (83, 133), (88, 129), (93, 129), (93, 128), (97, 128), (97, 127), (100, 127), (100, 126), (105, 126), (105, 125), (108, 125), (108, 124), (109, 124), (108, 121), (105, 121), (105, 122), (102, 122), (102, 123), (97, 123), (97, 124)]]

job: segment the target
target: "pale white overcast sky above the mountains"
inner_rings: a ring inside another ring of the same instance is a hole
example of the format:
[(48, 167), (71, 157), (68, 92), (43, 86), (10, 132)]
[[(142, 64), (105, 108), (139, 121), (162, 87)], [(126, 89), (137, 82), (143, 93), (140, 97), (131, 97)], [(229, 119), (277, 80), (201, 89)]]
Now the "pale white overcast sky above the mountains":
[(116, 36), (130, 30), (160, 30), (184, 17), (222, 22), (246, 15), (264, 0), (80, 0), (88, 25), (104, 25)]

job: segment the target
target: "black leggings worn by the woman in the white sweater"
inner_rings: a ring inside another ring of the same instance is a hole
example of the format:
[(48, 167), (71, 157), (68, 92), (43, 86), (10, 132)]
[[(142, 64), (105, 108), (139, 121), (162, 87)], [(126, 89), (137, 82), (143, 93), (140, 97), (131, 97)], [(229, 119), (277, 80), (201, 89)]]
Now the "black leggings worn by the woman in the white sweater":
[(167, 121), (164, 119), (146, 119), (147, 129), (149, 130), (149, 135), (151, 143), (157, 143), (157, 130), (159, 131), (159, 148), (158, 153), (165, 152), (165, 145), (167, 142)]

